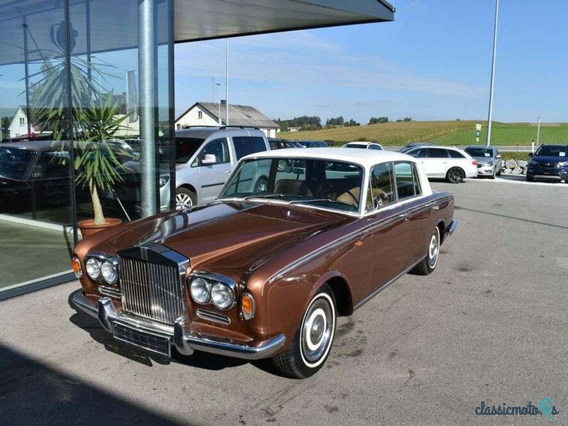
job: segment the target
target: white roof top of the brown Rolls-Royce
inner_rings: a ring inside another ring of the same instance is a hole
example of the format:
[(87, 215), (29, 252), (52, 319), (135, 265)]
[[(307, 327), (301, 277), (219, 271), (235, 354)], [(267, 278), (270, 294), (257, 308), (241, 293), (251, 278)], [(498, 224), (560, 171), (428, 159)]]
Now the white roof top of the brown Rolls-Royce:
[(417, 163), (416, 159), (410, 155), (395, 151), (364, 151), (343, 148), (285, 148), (250, 154), (244, 157), (244, 159), (249, 158), (313, 158), (314, 160), (347, 161), (367, 169), (378, 163), (387, 163), (388, 161)]

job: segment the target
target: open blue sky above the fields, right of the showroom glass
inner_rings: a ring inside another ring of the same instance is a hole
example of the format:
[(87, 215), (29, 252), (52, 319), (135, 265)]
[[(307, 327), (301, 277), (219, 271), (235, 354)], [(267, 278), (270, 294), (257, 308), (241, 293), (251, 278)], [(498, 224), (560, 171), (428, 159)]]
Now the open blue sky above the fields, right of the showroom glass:
[[(365, 124), (486, 118), (494, 1), (395, 6), (392, 23), (231, 39), (229, 102)], [(493, 119), (568, 121), (567, 16), (563, 1), (501, 0)], [(175, 55), (176, 111), (211, 101), (212, 77), (224, 87), (224, 40), (176, 45)]]

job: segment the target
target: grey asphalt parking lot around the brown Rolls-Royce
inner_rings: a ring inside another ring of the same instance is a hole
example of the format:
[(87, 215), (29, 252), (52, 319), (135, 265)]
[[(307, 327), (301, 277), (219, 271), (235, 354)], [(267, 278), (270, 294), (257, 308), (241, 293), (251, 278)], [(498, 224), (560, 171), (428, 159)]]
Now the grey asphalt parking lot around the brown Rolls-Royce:
[[(209, 354), (163, 364), (72, 310), (70, 283), (0, 302), (0, 423), (567, 424), (568, 185), (432, 186), (454, 192), (459, 222), (437, 271), (340, 320), (316, 376)], [(540, 398), (557, 418), (474, 413)]]

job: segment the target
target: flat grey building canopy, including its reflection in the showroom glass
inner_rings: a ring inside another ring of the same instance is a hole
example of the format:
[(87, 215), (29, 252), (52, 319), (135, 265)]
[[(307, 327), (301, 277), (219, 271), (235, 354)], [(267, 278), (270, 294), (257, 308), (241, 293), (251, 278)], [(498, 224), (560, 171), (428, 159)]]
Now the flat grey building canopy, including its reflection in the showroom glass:
[[(72, 53), (136, 48), (138, 17), (131, 11), (137, 1), (71, 0), (70, 18), (77, 31)], [(54, 0), (0, 0), (0, 65), (24, 62), (24, 25), (28, 28), (28, 61), (57, 55), (53, 38), (58, 37), (58, 28), (53, 22), (62, 21), (61, 4)], [(168, 13), (165, 1), (156, 4), (158, 19), (167, 18), (163, 15)], [(173, 6), (176, 43), (392, 21), (394, 14), (393, 6), (381, 0), (173, 0)], [(94, 22), (97, 25), (92, 25)], [(158, 29), (157, 38), (158, 43), (166, 43), (167, 31)]]

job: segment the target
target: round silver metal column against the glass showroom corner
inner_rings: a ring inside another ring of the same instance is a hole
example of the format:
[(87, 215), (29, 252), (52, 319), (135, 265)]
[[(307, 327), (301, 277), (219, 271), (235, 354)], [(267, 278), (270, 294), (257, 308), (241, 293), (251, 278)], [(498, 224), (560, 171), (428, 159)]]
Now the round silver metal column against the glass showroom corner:
[(155, 182), (155, 0), (138, 0), (138, 75), (140, 87), (142, 216), (158, 212)]

